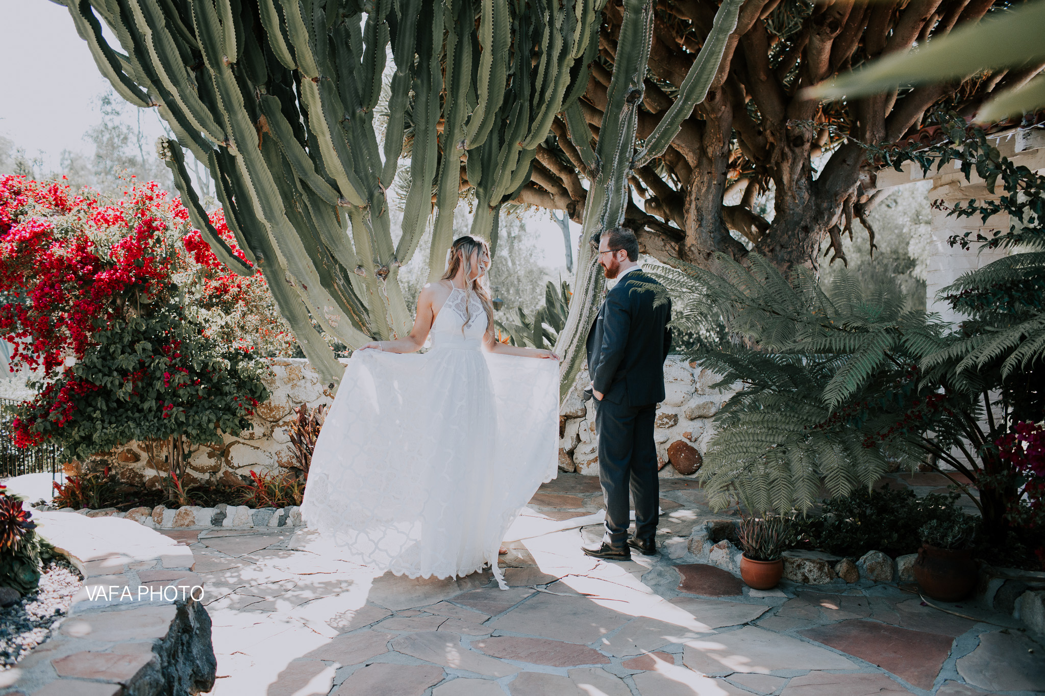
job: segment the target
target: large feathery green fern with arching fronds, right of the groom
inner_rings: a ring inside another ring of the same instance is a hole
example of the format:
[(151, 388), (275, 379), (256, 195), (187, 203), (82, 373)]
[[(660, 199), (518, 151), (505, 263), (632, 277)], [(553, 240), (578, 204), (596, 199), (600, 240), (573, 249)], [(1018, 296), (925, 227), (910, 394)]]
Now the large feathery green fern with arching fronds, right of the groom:
[(721, 274), (680, 263), (655, 273), (665, 290), (649, 286), (682, 302), (682, 330), (713, 335), (722, 320), (729, 332), (690, 356), (723, 376), (717, 386), (742, 387), (716, 416), (704, 455), (713, 504), (808, 510), (821, 485), (846, 496), (890, 465), (929, 461), (972, 480), (984, 528), (1004, 527), (1013, 491), (993, 442), (1012, 409), (995, 418), (985, 394), (1032, 390), (1024, 363), (1006, 376), (1004, 357), (969, 361), (956, 350), (968, 330), (906, 309), (896, 287), (864, 290), (844, 271), (825, 287), (805, 268), (786, 278), (757, 255), (747, 262), (720, 257)]

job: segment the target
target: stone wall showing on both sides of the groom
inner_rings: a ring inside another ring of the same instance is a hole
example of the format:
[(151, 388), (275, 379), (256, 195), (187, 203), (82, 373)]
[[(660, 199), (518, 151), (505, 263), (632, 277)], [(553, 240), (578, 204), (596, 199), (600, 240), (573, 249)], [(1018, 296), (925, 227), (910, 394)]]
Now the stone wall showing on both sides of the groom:
[[(657, 405), (654, 440), (660, 477), (690, 477), (699, 469), (713, 430), (711, 418), (736, 390), (712, 389), (721, 378), (696, 362), (668, 356), (666, 398)], [(581, 399), (590, 381), (586, 365), (559, 411), (559, 469), (599, 475), (595, 407)]]

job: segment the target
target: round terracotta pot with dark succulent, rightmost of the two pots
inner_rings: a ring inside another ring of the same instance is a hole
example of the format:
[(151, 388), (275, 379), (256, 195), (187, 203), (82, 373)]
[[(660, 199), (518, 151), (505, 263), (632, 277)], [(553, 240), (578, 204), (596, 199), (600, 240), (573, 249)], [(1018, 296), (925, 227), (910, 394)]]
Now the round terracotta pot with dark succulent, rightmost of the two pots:
[(956, 602), (976, 586), (978, 567), (972, 543), (979, 520), (960, 510), (922, 525), (922, 548), (914, 561), (914, 579), (932, 599)]

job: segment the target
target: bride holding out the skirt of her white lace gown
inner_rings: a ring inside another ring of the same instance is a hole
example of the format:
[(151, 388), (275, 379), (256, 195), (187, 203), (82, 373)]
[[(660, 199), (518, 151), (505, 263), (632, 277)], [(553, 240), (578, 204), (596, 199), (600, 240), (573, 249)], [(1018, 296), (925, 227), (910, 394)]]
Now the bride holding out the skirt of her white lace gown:
[[(557, 472), (559, 374), (551, 351), (494, 338), (489, 264), (484, 240), (455, 240), (410, 335), (367, 343), (348, 361), (301, 513), (349, 560), (411, 578), (489, 565), (508, 589), (501, 541)], [(397, 355), (429, 333), (427, 353)]]

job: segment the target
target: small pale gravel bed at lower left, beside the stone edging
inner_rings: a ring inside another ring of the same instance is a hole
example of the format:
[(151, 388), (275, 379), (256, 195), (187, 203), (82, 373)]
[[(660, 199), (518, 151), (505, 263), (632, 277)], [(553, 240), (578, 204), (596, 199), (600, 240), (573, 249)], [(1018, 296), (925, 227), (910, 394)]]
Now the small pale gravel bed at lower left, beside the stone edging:
[(0, 671), (8, 670), (29, 650), (47, 640), (83, 584), (79, 572), (66, 560), (52, 560), (40, 576), (40, 589), (17, 604), (0, 608)]

